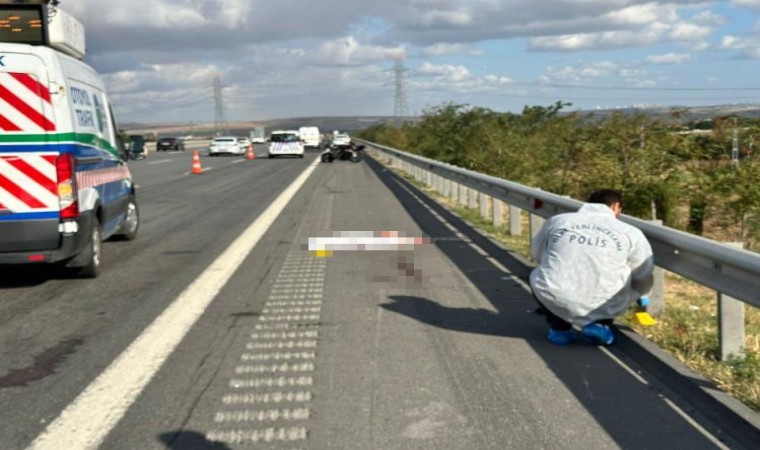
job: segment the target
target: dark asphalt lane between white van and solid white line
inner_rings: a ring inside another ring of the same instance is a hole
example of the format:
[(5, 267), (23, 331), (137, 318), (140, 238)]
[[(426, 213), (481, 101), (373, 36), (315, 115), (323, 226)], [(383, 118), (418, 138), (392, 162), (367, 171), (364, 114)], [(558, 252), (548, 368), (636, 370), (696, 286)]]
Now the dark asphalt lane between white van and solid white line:
[(54, 417), (308, 163), (282, 162), (290, 164), (185, 177), (141, 196), (137, 240), (105, 243), (98, 279), (5, 285), (2, 442), (23, 443)]

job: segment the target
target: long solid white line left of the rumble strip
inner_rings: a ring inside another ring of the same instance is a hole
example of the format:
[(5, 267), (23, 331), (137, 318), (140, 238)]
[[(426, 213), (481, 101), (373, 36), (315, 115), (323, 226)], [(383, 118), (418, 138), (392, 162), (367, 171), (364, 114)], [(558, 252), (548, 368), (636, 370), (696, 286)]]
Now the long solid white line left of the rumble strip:
[(29, 446), (97, 448), (319, 164), (315, 160)]

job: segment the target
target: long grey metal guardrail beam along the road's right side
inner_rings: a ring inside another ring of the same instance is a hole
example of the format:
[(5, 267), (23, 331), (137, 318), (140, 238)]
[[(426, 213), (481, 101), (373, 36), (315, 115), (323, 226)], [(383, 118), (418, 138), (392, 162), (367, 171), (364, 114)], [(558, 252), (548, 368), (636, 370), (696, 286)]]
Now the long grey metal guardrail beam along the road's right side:
[[(381, 151), (386, 156), (402, 161), (404, 164), (423, 170), (426, 173), (424, 177), (430, 181), (428, 184), (438, 183), (434, 178), (440, 177), (448, 180), (449, 183), (465, 186), (478, 193), (486, 194), (525, 210), (532, 216), (547, 218), (559, 213), (577, 211), (583, 205), (583, 202), (540, 189), (530, 188), (373, 142), (359, 139), (357, 141)], [(452, 187), (449, 186), (448, 189), (451, 190)], [(621, 220), (644, 232), (652, 245), (655, 264), (658, 267), (714, 289), (718, 293), (718, 299), (721, 301), (723, 309), (726, 308), (723, 306), (724, 300), (730, 300), (724, 299), (724, 294), (749, 305), (760, 307), (760, 254), (632, 216), (622, 215)], [(726, 311), (724, 311), (725, 313)], [(724, 319), (720, 318), (721, 333), (731, 333), (731, 328), (740, 327), (740, 333), (737, 334), (741, 335), (741, 343), (736, 345), (742, 349), (744, 345), (743, 317), (742, 309), (740, 317), (742, 323), (740, 325), (736, 320), (731, 325), (727, 325), (724, 323)], [(735, 337), (732, 340), (738, 342), (739, 338)], [(728, 355), (741, 351), (741, 349), (734, 348), (725, 349), (721, 353)]]

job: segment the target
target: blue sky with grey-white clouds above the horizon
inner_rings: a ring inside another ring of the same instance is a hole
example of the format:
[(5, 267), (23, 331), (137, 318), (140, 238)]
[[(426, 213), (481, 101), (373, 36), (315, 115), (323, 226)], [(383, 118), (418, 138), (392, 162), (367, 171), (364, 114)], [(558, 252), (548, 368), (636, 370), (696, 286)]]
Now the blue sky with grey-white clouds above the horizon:
[(760, 0), (61, 0), (120, 122), (760, 103)]

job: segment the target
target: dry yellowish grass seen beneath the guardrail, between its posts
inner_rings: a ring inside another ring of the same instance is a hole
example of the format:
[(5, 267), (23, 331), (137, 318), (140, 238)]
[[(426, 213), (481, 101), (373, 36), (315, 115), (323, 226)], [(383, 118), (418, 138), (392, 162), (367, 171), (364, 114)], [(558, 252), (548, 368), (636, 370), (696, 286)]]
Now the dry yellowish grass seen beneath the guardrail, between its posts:
[[(480, 211), (462, 207), (406, 173), (398, 170), (396, 173), (486, 235), (530, 258), (527, 233), (513, 236), (506, 227), (495, 227), (483, 219)], [(521, 215), (521, 222), (523, 229), (527, 229), (527, 214)], [(760, 412), (760, 309), (745, 306), (745, 358), (731, 361), (719, 360), (715, 292), (677, 274), (665, 272), (665, 310), (657, 318), (657, 325), (639, 325), (630, 319), (630, 315), (619, 320), (724, 392)]]

